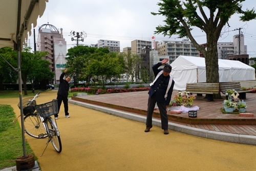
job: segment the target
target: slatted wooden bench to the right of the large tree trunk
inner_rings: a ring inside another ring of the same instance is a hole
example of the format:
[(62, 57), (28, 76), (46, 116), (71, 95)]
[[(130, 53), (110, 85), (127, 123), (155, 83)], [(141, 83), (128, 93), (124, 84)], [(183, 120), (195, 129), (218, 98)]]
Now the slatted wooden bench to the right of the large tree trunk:
[(239, 99), (246, 99), (246, 92), (251, 92), (252, 90), (243, 90), (241, 88), (240, 82), (221, 82), (220, 92), (225, 94), (228, 89), (236, 90), (239, 93)]

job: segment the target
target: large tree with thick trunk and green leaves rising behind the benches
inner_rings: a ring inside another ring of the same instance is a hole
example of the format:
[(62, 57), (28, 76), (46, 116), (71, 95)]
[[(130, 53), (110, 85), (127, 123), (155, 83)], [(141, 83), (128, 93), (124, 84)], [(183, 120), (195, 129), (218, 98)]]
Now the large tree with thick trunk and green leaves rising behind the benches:
[[(250, 21), (255, 19), (255, 10), (242, 10), (245, 0), (161, 0), (159, 13), (166, 17), (164, 26), (156, 27), (155, 33), (172, 36), (188, 37), (193, 45), (205, 56), (206, 82), (219, 83), (219, 65), (217, 42), (223, 26), (228, 25), (228, 20), (234, 13), (242, 14), (240, 20)], [(209, 16), (204, 10), (209, 12)], [(201, 14), (198, 14), (200, 12)], [(201, 15), (201, 16), (200, 16)], [(228, 25), (229, 26), (229, 25)], [(198, 27), (206, 33), (207, 50), (202, 48), (191, 34), (193, 28)]]

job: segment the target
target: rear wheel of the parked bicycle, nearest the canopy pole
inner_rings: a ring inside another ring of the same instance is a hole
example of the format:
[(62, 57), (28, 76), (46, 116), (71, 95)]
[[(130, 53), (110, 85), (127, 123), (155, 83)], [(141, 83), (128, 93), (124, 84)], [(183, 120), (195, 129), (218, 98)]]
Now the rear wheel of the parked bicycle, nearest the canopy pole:
[(37, 112), (31, 113), (24, 118), (24, 127), (26, 133), (34, 138), (46, 138), (46, 129), (42, 125)]

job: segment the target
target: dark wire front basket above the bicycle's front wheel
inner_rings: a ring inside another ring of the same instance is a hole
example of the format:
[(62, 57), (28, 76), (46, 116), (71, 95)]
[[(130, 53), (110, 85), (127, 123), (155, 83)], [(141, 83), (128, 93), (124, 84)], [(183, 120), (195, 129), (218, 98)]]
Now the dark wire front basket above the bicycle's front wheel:
[(35, 105), (35, 107), (38, 115), (40, 117), (46, 118), (58, 113), (58, 100), (53, 99), (51, 102)]

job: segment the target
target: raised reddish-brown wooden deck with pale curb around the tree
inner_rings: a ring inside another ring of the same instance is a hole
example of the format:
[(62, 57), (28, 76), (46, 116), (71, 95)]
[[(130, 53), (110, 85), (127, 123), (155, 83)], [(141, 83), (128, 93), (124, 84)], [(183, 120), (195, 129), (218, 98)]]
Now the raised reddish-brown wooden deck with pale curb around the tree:
[[(174, 94), (177, 92), (174, 92)], [(106, 113), (111, 113), (113, 115), (117, 115), (120, 117), (133, 119), (136, 121), (140, 121), (145, 123), (146, 117), (145, 115), (138, 114), (137, 111), (143, 113), (146, 111), (147, 107), (147, 92), (128, 92), (128, 93), (112, 93), (112, 94), (99, 94), (93, 96), (77, 96), (75, 100), (70, 100), (70, 103), (81, 105), (84, 107), (92, 108), (95, 110), (100, 110)], [(247, 93), (247, 105), (248, 111), (255, 113), (256, 106), (255, 103), (256, 94)], [(90, 103), (84, 103), (83, 101), (87, 100)], [(91, 104), (94, 103), (94, 104)], [(195, 105), (200, 107), (198, 111), (198, 118), (203, 118), (204, 120), (208, 120), (209, 118), (219, 118), (220, 122), (222, 122), (225, 118), (233, 121), (234, 118), (238, 120), (252, 119), (255, 120), (254, 117), (239, 117), (239, 115), (233, 114), (223, 114), (220, 111), (222, 107), (223, 100), (215, 100), (214, 102), (207, 102), (206, 99), (198, 98), (195, 100)], [(110, 106), (110, 107), (104, 107)], [(116, 107), (118, 106), (118, 107)], [(118, 108), (118, 109), (116, 109)], [(124, 111), (121, 109), (125, 109), (128, 111)], [(133, 108), (136, 110), (131, 110), (135, 112), (129, 112), (129, 110)], [(158, 112), (158, 111), (156, 111)], [(207, 113), (206, 113), (207, 112)], [(216, 113), (213, 115), (212, 113)], [(168, 112), (168, 115), (170, 113)], [(183, 115), (176, 115), (178, 117), (186, 117), (188, 118), (188, 114), (185, 113)], [(225, 116), (225, 117), (223, 117)], [(169, 116), (170, 117), (170, 116)], [(197, 118), (195, 120), (198, 120)], [(159, 118), (154, 119), (154, 125), (161, 126), (161, 122)], [(190, 134), (194, 136), (235, 142), (235, 143), (244, 143), (244, 144), (253, 144), (256, 145), (256, 125), (229, 125), (229, 124), (187, 124), (182, 122), (169, 121), (169, 129), (180, 131), (185, 134)]]

